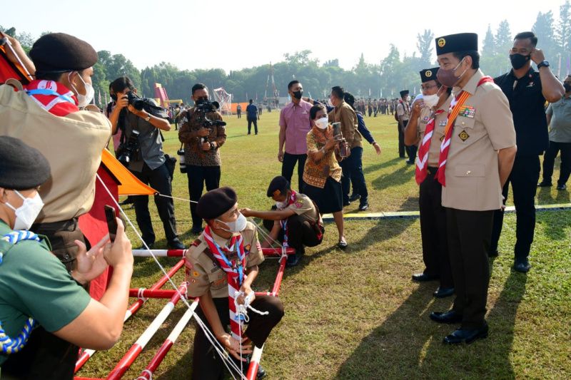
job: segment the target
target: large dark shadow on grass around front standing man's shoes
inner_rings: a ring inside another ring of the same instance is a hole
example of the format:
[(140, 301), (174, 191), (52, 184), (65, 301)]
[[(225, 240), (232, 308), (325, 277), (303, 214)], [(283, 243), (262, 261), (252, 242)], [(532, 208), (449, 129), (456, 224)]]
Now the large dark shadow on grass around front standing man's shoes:
[[(365, 337), (340, 367), (337, 379), (515, 379), (512, 344), (524, 274), (511, 272), (487, 315), (490, 337), (470, 345), (445, 346), (456, 326), (430, 322), (434, 310), (450, 307), (423, 287), (416, 289), (385, 322)], [(436, 304), (438, 303), (438, 306)]]

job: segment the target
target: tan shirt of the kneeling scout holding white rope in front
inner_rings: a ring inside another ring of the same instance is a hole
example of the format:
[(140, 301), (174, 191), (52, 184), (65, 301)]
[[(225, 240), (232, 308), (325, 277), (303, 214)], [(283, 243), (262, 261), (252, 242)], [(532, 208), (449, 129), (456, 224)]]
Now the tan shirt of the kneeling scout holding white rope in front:
[[(255, 267), (263, 262), (263, 253), (258, 242), (256, 225), (246, 223), (246, 228), (240, 232), (243, 238), (244, 254), (246, 255), (246, 268)], [(220, 237), (212, 232), (213, 240), (220, 247), (225, 247), (230, 239)], [(226, 256), (228, 257), (228, 255)], [(236, 259), (233, 252), (228, 260)], [(188, 297), (200, 297), (209, 289), (212, 298), (228, 297), (228, 274), (216, 262), (212, 252), (201, 234), (186, 251), (186, 281), (188, 282)]]

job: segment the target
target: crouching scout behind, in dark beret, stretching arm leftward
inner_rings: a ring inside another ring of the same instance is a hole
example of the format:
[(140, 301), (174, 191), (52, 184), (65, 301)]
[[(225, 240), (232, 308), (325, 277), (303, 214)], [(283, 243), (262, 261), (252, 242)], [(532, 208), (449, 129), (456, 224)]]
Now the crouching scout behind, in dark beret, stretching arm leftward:
[[(269, 247), (271, 242), (280, 240), (286, 247), (295, 248), (295, 255), (288, 256), (288, 267), (298, 265), (305, 253), (304, 245), (315, 247), (323, 240), (323, 222), (319, 211), (310, 197), (291, 190), (285, 177), (278, 175), (268, 187), (268, 197), (276, 201), (276, 210), (254, 211), (249, 208), (240, 210), (245, 217), (260, 217), (270, 221), (271, 241), (263, 242)], [(273, 223), (271, 223), (273, 221)]]

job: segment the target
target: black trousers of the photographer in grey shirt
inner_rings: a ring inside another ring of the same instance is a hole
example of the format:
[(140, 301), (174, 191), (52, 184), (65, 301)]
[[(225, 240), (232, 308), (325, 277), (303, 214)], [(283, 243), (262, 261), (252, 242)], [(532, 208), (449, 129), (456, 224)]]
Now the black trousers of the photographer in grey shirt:
[[(136, 176), (142, 183), (151, 186), (163, 195), (172, 195), (171, 175), (168, 173), (166, 163), (152, 170), (146, 163), (143, 163), (143, 170), (131, 173)], [(178, 239), (176, 233), (176, 220), (174, 217), (174, 203), (172, 198), (161, 197), (155, 195), (155, 205), (158, 210), (158, 216), (163, 222), (166, 240), (173, 242)], [(148, 195), (135, 195), (133, 197), (135, 204), (135, 215), (137, 217), (137, 225), (141, 230), (143, 240), (148, 244), (155, 242), (155, 232), (153, 230), (153, 222), (151, 222), (151, 214), (148, 212)]]

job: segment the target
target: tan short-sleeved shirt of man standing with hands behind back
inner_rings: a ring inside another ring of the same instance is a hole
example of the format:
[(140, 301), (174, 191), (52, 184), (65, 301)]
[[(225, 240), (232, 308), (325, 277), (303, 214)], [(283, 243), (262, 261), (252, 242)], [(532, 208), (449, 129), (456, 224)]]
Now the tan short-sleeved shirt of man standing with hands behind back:
[(477, 83), (478, 70), (464, 88), (472, 94), (456, 118), (446, 163), (442, 205), (458, 210), (500, 210), (502, 187), (497, 150), (515, 146), (515, 129), (507, 98), (494, 83)]

